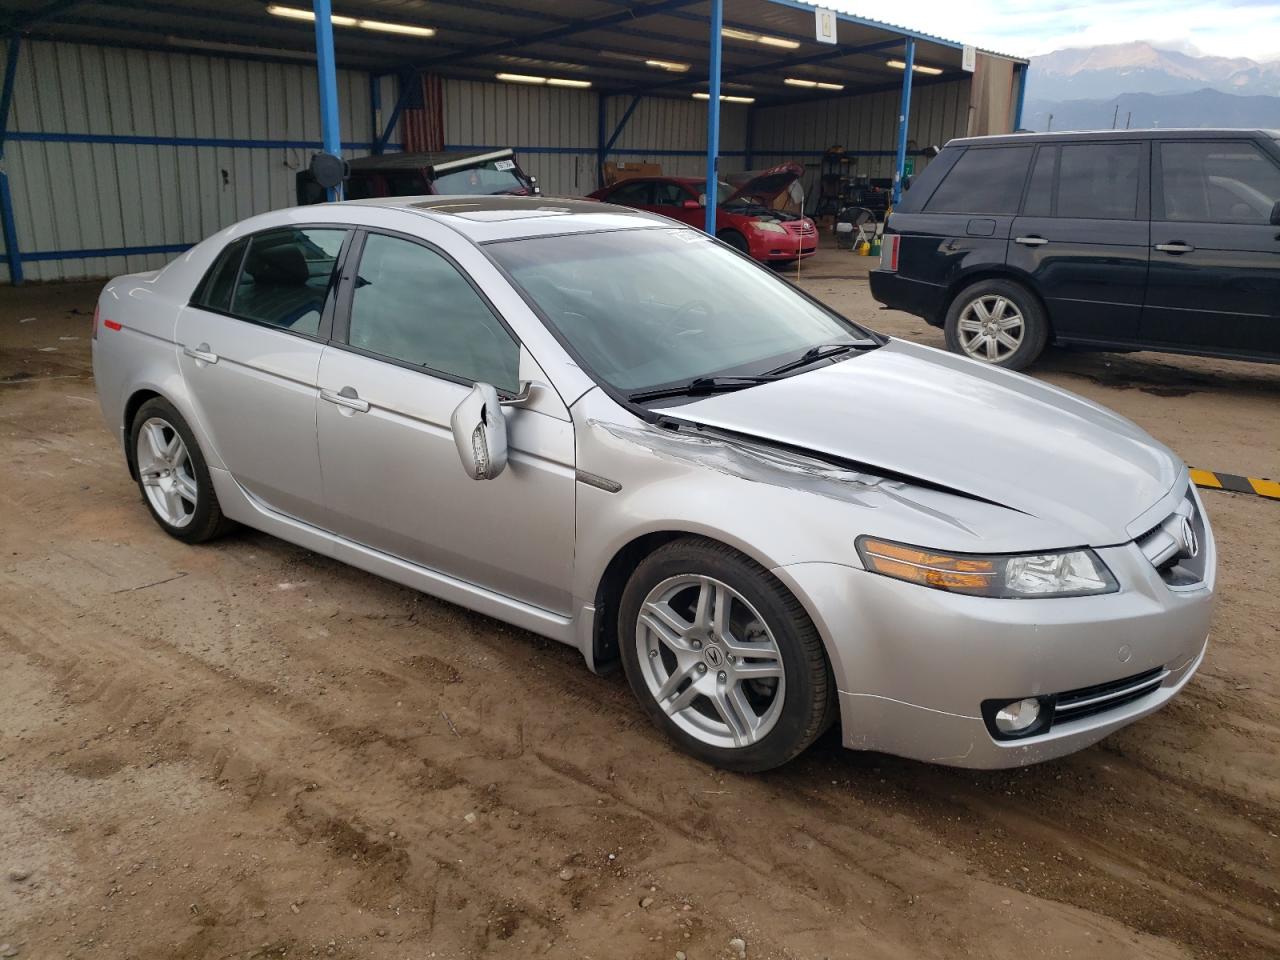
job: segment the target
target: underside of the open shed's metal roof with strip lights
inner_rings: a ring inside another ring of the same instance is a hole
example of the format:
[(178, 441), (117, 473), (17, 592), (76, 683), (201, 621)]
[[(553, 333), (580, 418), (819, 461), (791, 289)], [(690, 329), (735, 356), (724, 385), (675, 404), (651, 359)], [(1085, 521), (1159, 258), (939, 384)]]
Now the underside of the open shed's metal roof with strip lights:
[[(311, 8), (310, 0), (279, 3)], [(10, 17), (36, 36), (79, 42), (276, 60), (314, 56), (314, 26), (269, 14), (265, 0), (84, 0), (24, 23), (46, 4), (10, 0), (17, 8)], [(897, 84), (901, 70), (886, 60), (909, 36), (918, 64), (937, 67), (943, 77), (964, 76), (955, 41), (841, 13), (840, 44), (832, 46), (817, 42), (814, 6), (804, 0), (727, 0), (724, 6), (731, 33), (723, 37), (722, 76), (726, 86), (735, 84), (732, 92), (760, 104), (813, 99), (813, 88), (786, 86), (786, 77), (841, 83), (846, 93)], [(687, 97), (705, 90), (708, 0), (334, 0), (334, 8), (339, 15), (436, 31), (410, 37), (335, 24), (343, 68), (416, 68), (462, 79), (525, 73), (585, 79), (609, 93)], [(664, 69), (660, 61), (686, 69)]]

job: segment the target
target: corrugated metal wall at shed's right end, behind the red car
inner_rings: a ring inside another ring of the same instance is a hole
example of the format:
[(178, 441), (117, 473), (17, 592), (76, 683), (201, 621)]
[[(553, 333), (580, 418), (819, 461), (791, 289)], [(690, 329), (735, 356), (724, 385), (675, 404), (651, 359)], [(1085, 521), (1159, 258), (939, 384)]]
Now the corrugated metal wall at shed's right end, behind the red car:
[[(969, 91), (968, 79), (916, 86), (911, 92), (908, 141), (923, 150), (966, 136)], [(762, 108), (755, 113), (753, 163), (767, 166), (800, 159), (815, 166), (827, 147), (840, 145), (858, 156), (858, 174), (892, 177), (900, 97), (897, 90), (891, 90)], [(925, 163), (924, 157), (916, 157), (916, 169)]]

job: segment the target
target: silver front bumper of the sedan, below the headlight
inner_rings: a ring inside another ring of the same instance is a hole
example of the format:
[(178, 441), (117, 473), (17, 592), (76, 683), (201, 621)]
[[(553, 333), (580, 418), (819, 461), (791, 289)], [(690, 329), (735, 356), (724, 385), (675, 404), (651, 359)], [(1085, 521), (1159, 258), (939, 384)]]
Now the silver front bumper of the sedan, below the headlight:
[[(1097, 742), (1165, 705), (1207, 646), (1215, 556), (1206, 576), (1170, 588), (1135, 544), (1098, 549), (1121, 584), (1101, 596), (963, 596), (831, 563), (774, 568), (827, 644), (842, 740), (956, 767), (1038, 763)], [(1149, 692), (1043, 733), (996, 740), (982, 701), (1047, 696), (1167, 671)]]

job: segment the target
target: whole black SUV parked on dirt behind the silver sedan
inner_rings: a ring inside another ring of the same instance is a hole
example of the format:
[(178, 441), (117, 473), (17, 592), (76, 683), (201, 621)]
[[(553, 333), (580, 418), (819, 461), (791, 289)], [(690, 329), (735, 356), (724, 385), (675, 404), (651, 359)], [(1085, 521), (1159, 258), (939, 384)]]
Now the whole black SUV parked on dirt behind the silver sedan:
[(1050, 340), (1280, 361), (1280, 131), (954, 140), (870, 280), (1014, 370)]

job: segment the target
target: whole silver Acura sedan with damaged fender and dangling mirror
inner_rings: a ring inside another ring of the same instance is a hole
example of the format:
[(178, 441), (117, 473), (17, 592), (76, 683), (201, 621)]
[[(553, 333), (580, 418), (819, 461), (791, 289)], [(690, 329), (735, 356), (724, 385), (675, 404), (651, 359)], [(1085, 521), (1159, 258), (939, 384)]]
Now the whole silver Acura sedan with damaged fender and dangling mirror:
[(282, 210), (108, 284), (156, 522), (233, 521), (621, 663), (707, 762), (1078, 750), (1207, 643), (1213, 536), (1132, 422), (602, 204)]

